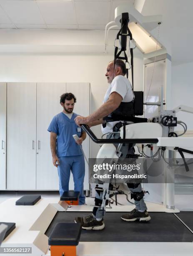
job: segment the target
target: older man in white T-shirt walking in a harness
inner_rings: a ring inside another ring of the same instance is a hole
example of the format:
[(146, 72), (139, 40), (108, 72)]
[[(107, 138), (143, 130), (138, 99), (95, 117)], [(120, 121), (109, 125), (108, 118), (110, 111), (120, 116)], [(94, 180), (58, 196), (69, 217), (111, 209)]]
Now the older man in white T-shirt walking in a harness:
[[(133, 109), (133, 90), (129, 80), (125, 77), (126, 67), (125, 63), (116, 59), (115, 67), (114, 61), (110, 61), (107, 67), (107, 72), (105, 76), (107, 77), (107, 81), (110, 84), (108, 90), (104, 97), (103, 105), (98, 108), (93, 114), (88, 117), (78, 116), (75, 118), (76, 124), (88, 124), (90, 127), (93, 125), (98, 125), (104, 123), (103, 118), (106, 116), (131, 116)], [(119, 121), (106, 123), (106, 127), (102, 127), (102, 132), (110, 133), (115, 131), (116, 125)], [(103, 125), (104, 126), (104, 125)], [(107, 138), (118, 138), (118, 134), (109, 135)], [(119, 136), (119, 135), (118, 135)], [(133, 145), (125, 144), (121, 148), (121, 152), (123, 154), (122, 157), (126, 157), (127, 154), (134, 154)], [(143, 200), (144, 192), (141, 188), (140, 181), (135, 181), (135, 183), (128, 183), (128, 187), (130, 188), (131, 195), (135, 201), (135, 209), (127, 214), (121, 216), (122, 220), (125, 221), (149, 221), (151, 218), (147, 212), (146, 204)], [(102, 193), (98, 194), (96, 192), (95, 205), (93, 208), (93, 214), (85, 216), (83, 218), (77, 217), (75, 218), (75, 222), (81, 223), (83, 229), (87, 230), (102, 230), (105, 227), (103, 221), (104, 211), (101, 210), (100, 205), (103, 201)]]

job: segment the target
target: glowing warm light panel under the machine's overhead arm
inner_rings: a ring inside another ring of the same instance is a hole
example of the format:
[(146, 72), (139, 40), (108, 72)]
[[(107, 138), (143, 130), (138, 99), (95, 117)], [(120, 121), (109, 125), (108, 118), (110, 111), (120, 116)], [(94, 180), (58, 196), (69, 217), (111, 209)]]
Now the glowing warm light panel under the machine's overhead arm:
[(128, 27), (137, 47), (143, 52), (143, 54), (156, 51), (156, 49), (162, 49), (162, 46), (158, 43), (158, 41), (156, 41), (155, 38), (153, 38), (150, 33), (145, 31), (145, 29), (142, 28), (142, 26), (140, 26), (137, 22), (129, 23)]

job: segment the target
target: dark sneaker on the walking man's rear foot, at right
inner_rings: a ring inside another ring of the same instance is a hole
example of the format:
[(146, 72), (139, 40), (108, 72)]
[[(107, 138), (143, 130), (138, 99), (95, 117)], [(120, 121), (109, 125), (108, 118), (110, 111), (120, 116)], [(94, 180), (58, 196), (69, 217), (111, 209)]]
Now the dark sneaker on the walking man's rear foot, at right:
[(149, 213), (145, 210), (144, 212), (139, 212), (137, 209), (133, 209), (131, 212), (124, 214), (120, 217), (125, 221), (149, 221), (151, 219)]

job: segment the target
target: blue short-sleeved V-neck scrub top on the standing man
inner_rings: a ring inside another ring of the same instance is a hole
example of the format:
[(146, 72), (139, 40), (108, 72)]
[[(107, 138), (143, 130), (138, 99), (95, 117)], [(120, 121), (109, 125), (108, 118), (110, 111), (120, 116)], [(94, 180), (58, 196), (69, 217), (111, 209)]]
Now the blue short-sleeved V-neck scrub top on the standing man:
[[(63, 112), (55, 115), (51, 121), (48, 131), (57, 134), (56, 139), (56, 154), (58, 157), (61, 156), (80, 156), (82, 151), (80, 150), (80, 145), (75, 143), (73, 138), (74, 134), (78, 137), (81, 136), (82, 129), (76, 125), (75, 117), (78, 115), (73, 113), (71, 119), (68, 118)], [(78, 131), (80, 130), (81, 131)]]

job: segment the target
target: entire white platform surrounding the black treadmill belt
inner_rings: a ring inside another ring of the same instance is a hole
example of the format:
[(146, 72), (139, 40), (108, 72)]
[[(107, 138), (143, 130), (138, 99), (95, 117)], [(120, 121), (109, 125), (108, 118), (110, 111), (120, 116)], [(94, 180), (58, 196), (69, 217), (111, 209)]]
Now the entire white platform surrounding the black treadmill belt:
[[(8, 199), (0, 204), (0, 221), (15, 222), (16, 228), (3, 241), (2, 247), (32, 247), (32, 256), (50, 255), (48, 237), (44, 235), (57, 211), (65, 211), (66, 204), (58, 198), (42, 198), (36, 205), (15, 205), (19, 198)], [(93, 204), (93, 198), (87, 198), (87, 203)], [(59, 204), (58, 204), (59, 202)], [(106, 209), (108, 212), (130, 211), (133, 205), (116, 206)], [(150, 212), (164, 212), (163, 205), (147, 202)], [(75, 205), (68, 211), (92, 211), (92, 206)], [(176, 212), (175, 210), (169, 210)], [(65, 221), (65, 220), (64, 220)], [(129, 223), (127, 223), (129, 224)], [(99, 231), (100, 232), (100, 231)], [(118, 230), (115, 230), (118, 232)], [(125, 234), (127, 236), (129, 234)], [(156, 253), (155, 253), (156, 252)], [(106, 243), (80, 242), (77, 256), (192, 256), (193, 243)], [(27, 255), (27, 254), (26, 254)], [(18, 256), (18, 254), (12, 254)]]

